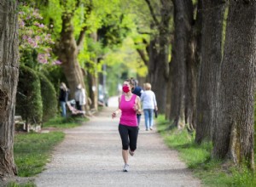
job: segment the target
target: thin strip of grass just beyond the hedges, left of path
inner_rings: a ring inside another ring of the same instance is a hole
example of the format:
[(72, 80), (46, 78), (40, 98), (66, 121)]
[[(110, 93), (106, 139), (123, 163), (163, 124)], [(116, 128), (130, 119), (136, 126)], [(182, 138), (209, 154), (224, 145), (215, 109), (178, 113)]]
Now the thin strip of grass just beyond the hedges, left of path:
[(44, 122), (42, 127), (55, 127), (55, 128), (72, 128), (78, 127), (82, 122), (87, 122), (88, 118), (85, 117), (67, 117), (63, 118), (56, 116), (49, 120), (49, 122)]

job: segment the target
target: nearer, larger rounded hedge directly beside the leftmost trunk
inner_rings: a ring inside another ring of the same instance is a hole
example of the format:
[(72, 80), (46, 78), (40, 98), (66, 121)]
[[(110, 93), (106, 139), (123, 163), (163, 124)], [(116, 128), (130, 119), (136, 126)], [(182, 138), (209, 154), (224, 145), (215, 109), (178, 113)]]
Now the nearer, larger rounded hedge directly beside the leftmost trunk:
[(20, 65), (20, 77), (16, 94), (16, 114), (26, 122), (38, 124), (42, 122), (43, 103), (40, 80), (35, 71)]

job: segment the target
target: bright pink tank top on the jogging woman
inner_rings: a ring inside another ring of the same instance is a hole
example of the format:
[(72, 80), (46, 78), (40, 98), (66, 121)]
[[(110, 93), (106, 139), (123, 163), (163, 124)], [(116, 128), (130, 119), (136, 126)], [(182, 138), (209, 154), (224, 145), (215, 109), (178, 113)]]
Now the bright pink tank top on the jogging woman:
[(121, 95), (119, 108), (122, 110), (120, 117), (120, 124), (137, 127), (137, 116), (136, 111), (134, 111), (133, 106), (136, 104), (136, 94), (132, 94), (131, 99), (126, 101), (125, 95)]

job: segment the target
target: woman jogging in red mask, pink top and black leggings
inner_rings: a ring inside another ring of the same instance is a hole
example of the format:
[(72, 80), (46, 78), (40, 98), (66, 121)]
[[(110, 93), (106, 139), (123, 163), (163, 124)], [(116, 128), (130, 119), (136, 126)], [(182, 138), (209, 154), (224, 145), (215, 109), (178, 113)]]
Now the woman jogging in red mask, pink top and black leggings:
[(125, 80), (123, 84), (123, 92), (119, 96), (119, 108), (112, 113), (112, 118), (121, 112), (119, 121), (119, 134), (122, 139), (122, 156), (125, 162), (124, 172), (128, 172), (128, 151), (131, 156), (137, 149), (137, 113), (141, 112), (140, 98), (136, 94), (131, 93), (134, 82), (131, 79)]

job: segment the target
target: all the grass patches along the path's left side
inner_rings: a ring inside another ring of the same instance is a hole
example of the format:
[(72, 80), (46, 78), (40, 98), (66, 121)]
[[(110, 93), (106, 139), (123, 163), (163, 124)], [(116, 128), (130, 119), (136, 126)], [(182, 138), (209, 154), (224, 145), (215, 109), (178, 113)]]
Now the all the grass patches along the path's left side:
[[(55, 117), (43, 124), (43, 128), (54, 128), (49, 133), (16, 133), (15, 134), (15, 164), (18, 167), (19, 177), (34, 177), (44, 171), (44, 166), (50, 161), (54, 147), (64, 138), (65, 128), (78, 127), (88, 121), (84, 117)], [(10, 182), (9, 187), (34, 187), (32, 181), (26, 184)]]

